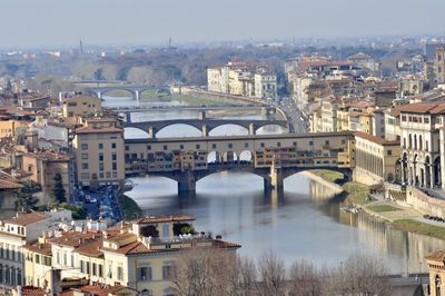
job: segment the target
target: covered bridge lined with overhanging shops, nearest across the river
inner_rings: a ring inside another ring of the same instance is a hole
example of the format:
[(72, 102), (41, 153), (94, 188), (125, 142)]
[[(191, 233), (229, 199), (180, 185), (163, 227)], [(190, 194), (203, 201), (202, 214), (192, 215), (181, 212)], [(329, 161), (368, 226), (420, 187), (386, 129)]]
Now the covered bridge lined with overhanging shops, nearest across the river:
[[(178, 191), (220, 171), (245, 171), (264, 179), (265, 189), (283, 189), (284, 179), (310, 169), (352, 176), (353, 132), (249, 135), (126, 139), (126, 174), (166, 177)], [(249, 186), (249, 185), (246, 185)]]

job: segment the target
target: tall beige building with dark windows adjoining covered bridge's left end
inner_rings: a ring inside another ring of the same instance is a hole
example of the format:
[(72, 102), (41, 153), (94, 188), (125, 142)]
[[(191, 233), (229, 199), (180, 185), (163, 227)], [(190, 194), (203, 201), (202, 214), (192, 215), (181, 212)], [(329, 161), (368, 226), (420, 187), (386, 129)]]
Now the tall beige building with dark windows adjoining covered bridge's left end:
[(78, 185), (123, 185), (123, 129), (100, 126), (78, 128), (72, 147)]

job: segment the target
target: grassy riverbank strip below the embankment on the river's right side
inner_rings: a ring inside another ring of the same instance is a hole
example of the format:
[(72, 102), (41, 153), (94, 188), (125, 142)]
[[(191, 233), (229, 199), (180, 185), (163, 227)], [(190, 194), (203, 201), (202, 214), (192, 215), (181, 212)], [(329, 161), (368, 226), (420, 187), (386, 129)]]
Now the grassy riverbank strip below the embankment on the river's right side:
[(378, 221), (386, 223), (399, 230), (445, 239), (445, 224), (439, 226), (427, 220), (423, 221), (423, 215), (409, 206), (402, 206), (390, 200), (377, 200), (372, 197), (369, 186), (354, 181), (339, 185), (343, 180), (340, 172), (312, 170), (306, 176), (317, 181), (322, 178), (324, 182), (339, 186), (345, 195), (343, 203), (360, 208), (366, 215)]

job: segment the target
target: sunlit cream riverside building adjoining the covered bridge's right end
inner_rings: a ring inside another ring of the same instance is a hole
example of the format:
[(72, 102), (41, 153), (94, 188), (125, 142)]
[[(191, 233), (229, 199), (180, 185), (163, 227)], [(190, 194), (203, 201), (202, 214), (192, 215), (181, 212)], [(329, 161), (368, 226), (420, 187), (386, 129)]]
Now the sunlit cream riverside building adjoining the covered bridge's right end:
[(362, 131), (354, 135), (356, 157), (354, 180), (366, 185), (383, 181), (399, 182), (402, 180), (400, 142), (387, 141)]

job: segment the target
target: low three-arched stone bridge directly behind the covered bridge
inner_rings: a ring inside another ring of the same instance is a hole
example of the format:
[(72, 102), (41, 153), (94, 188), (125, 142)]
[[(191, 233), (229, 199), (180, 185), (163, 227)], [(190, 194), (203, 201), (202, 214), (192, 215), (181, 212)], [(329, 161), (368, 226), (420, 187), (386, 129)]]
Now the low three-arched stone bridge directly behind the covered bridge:
[(246, 128), (249, 135), (255, 135), (256, 131), (265, 126), (280, 126), (288, 129), (288, 122), (286, 120), (254, 120), (254, 119), (170, 119), (170, 120), (159, 120), (159, 121), (144, 121), (144, 122), (129, 122), (129, 117), (127, 117), (126, 128), (137, 128), (146, 131), (150, 138), (156, 138), (156, 134), (172, 125), (187, 125), (195, 127), (202, 131), (202, 136), (209, 136), (209, 132), (224, 125), (236, 125)]

